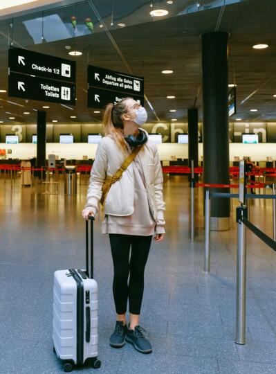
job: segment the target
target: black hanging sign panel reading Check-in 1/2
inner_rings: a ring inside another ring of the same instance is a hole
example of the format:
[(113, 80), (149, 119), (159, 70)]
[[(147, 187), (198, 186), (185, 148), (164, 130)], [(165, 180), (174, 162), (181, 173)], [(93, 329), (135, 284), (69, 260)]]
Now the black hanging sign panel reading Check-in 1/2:
[(44, 55), (27, 49), (10, 48), (10, 71), (75, 83), (75, 61)]

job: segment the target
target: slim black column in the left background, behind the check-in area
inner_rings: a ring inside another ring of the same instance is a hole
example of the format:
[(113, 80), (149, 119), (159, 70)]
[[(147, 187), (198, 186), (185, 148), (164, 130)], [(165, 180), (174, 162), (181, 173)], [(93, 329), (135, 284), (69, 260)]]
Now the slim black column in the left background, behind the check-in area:
[[(37, 168), (46, 166), (46, 112), (37, 111)], [(37, 175), (40, 177), (41, 172)], [(43, 173), (44, 175), (44, 173)]]

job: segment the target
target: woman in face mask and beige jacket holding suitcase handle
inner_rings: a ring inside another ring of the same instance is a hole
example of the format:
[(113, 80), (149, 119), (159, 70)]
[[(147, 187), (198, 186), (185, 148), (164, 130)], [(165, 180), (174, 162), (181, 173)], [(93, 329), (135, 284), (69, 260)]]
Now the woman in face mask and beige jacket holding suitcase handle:
[(147, 132), (139, 127), (146, 121), (145, 108), (132, 98), (107, 105), (103, 117), (105, 136), (98, 145), (82, 211), (86, 220), (89, 215), (98, 213), (104, 180), (115, 175), (129, 154), (136, 152), (133, 161), (123, 172), (121, 170), (121, 177), (111, 184), (105, 195), (102, 233), (109, 234), (114, 266), (117, 321), (110, 345), (120, 348), (128, 341), (141, 353), (152, 350), (139, 325), (145, 265), (152, 236), (160, 242), (165, 235), (163, 174), (156, 144), (149, 141)]

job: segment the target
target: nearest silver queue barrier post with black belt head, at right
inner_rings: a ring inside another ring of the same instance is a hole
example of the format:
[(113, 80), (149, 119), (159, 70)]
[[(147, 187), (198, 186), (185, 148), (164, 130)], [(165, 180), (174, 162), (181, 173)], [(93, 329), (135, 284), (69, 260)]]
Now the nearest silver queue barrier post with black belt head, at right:
[(236, 343), (246, 344), (246, 226), (241, 217), (247, 217), (247, 207), (237, 207), (237, 309)]

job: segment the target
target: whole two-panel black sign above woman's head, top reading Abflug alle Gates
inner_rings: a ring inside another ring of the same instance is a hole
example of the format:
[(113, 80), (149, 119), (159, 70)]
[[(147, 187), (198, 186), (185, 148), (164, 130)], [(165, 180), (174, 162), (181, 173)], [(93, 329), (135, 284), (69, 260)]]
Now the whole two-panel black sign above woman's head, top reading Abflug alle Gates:
[(144, 79), (127, 73), (88, 67), (88, 105), (102, 108), (130, 96), (144, 104)]

